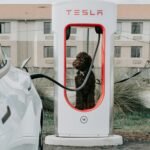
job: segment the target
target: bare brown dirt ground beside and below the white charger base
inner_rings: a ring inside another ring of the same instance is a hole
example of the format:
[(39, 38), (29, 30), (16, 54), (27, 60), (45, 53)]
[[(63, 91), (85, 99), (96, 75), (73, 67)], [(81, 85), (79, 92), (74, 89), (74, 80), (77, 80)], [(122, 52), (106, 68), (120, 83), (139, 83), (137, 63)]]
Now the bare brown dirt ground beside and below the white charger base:
[[(150, 150), (150, 133), (115, 132), (123, 136), (123, 145), (103, 147), (66, 147), (44, 145), (44, 150)], [(92, 142), (92, 141), (91, 141)]]

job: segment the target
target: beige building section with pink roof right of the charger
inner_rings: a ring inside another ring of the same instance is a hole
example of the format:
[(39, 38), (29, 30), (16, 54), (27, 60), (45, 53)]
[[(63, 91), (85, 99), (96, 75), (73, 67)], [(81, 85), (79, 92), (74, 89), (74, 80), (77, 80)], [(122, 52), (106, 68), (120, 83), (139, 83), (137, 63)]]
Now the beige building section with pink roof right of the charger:
[(150, 5), (119, 5), (115, 66), (144, 67), (150, 60)]

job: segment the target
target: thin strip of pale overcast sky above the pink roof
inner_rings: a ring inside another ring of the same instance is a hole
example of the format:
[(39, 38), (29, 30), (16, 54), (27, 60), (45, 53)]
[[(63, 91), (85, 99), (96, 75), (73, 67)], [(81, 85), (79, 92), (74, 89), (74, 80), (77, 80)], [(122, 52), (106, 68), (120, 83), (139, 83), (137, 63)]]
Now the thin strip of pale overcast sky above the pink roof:
[[(52, 1), (56, 1), (56, 0), (0, 0), (0, 4), (16, 4), (16, 3), (17, 4), (49, 4)], [(119, 4), (150, 4), (150, 0), (108, 0), (108, 1), (112, 1)]]

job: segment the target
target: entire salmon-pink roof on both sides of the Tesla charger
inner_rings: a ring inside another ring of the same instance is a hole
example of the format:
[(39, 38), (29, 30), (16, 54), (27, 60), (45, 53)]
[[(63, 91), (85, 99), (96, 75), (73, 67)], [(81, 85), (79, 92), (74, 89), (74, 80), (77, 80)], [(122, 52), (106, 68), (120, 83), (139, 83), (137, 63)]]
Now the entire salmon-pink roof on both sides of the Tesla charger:
[[(48, 4), (0, 4), (0, 20), (41, 20), (52, 18)], [(150, 20), (150, 4), (120, 4), (118, 19)]]

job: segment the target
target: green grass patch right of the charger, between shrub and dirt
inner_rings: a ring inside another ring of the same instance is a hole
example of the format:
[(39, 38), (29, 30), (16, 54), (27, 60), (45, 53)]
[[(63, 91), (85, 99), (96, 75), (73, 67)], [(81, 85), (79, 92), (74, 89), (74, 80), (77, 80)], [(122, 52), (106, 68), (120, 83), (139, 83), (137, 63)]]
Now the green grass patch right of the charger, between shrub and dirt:
[(150, 110), (133, 113), (115, 113), (114, 130), (123, 132), (150, 132)]

